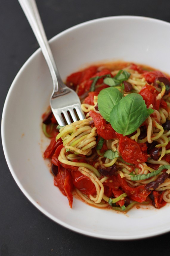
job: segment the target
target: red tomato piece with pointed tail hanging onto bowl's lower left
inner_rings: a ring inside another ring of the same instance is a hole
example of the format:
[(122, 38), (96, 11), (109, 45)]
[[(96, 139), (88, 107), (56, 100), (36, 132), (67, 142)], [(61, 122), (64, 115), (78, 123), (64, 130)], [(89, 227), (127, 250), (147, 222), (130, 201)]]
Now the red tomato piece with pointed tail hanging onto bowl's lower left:
[(72, 176), (67, 169), (63, 167), (58, 172), (57, 176), (54, 177), (54, 185), (59, 188), (59, 190), (63, 193), (64, 196), (67, 196), (69, 200), (69, 206), (72, 208)]

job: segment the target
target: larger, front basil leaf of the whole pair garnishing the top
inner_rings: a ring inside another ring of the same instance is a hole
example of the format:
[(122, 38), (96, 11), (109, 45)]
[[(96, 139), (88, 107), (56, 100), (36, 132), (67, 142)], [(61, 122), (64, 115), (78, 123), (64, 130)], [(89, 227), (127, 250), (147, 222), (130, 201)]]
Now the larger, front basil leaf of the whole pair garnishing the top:
[(129, 135), (146, 120), (148, 111), (142, 96), (131, 93), (123, 97), (110, 112), (110, 123), (113, 129), (125, 135)]

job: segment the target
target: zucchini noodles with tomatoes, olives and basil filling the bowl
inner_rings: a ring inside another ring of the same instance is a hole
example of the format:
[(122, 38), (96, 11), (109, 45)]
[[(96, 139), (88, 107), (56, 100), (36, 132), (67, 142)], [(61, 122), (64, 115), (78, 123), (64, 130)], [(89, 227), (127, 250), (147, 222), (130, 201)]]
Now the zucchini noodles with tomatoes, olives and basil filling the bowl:
[(42, 115), (54, 185), (89, 205), (127, 212), (170, 203), (170, 77), (134, 63), (89, 66), (67, 77), (86, 119), (60, 127)]

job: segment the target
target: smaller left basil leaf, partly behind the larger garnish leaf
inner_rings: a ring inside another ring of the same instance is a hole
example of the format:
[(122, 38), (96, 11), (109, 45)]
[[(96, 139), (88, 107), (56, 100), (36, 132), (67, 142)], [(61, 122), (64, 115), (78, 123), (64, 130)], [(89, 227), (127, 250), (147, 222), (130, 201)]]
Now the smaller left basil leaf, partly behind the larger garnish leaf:
[(122, 99), (122, 93), (113, 87), (100, 91), (98, 95), (98, 109), (106, 121), (110, 122), (110, 111)]

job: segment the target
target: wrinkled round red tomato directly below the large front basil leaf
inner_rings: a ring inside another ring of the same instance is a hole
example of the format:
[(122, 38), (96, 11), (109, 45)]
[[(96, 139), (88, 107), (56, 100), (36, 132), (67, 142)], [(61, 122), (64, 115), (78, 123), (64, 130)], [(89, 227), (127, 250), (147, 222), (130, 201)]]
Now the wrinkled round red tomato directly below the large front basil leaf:
[(135, 140), (122, 134), (116, 133), (116, 135), (119, 138), (118, 151), (124, 161), (136, 165), (147, 161), (148, 155), (142, 152), (140, 145)]

